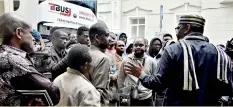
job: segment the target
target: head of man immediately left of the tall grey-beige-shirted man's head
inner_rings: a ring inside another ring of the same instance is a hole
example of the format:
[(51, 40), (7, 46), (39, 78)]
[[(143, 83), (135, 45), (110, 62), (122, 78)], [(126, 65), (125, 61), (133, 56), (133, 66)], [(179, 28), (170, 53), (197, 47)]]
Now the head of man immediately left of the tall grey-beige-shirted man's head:
[(87, 28), (86, 26), (81, 26), (78, 28), (77, 42), (80, 44), (90, 46), (89, 28)]

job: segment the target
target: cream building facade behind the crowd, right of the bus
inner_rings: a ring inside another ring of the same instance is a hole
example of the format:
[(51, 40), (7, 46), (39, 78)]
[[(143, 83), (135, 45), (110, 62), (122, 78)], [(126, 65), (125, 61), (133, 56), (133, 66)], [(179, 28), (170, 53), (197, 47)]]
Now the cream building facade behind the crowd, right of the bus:
[[(175, 36), (177, 26), (176, 15), (199, 14), (206, 19), (204, 35), (209, 37), (211, 43), (224, 44), (232, 38), (233, 33), (233, 3), (221, 3), (224, 0), (119, 0), (121, 3), (121, 23), (119, 32), (130, 35), (129, 18), (145, 17), (145, 37), (148, 40), (160, 32), (160, 5), (163, 5), (162, 33), (170, 33)], [(233, 0), (232, 0), (233, 1)], [(187, 8), (184, 5), (188, 3)], [(138, 9), (137, 9), (138, 7)], [(111, 23), (111, 1), (98, 1), (98, 15), (104, 17), (107, 23)], [(110, 30), (111, 24), (108, 24)]]

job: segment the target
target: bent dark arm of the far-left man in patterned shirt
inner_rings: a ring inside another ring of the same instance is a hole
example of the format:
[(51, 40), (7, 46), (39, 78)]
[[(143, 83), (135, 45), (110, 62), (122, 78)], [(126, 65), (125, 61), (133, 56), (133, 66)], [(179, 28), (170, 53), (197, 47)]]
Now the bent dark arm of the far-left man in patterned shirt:
[(11, 79), (11, 83), (16, 90), (46, 90), (53, 102), (53, 105), (59, 103), (60, 91), (58, 87), (56, 87), (42, 74), (38, 73), (35, 68), (30, 66), (29, 69), (24, 70), (28, 70), (26, 75), (17, 76)]

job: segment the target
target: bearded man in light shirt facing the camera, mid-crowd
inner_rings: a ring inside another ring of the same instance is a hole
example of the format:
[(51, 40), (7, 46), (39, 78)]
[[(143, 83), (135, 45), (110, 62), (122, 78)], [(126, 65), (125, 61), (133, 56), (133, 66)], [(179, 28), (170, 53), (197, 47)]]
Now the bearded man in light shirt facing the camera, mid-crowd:
[(137, 98), (131, 99), (130, 106), (153, 106), (152, 90), (142, 86), (137, 77), (126, 74), (127, 69), (124, 66), (127, 63), (140, 64), (142, 63), (144, 73), (152, 75), (156, 69), (155, 61), (145, 53), (146, 41), (144, 38), (136, 38), (133, 42), (133, 53), (124, 57), (122, 65), (118, 74), (118, 86), (120, 89), (123, 87), (134, 87), (138, 94)]

